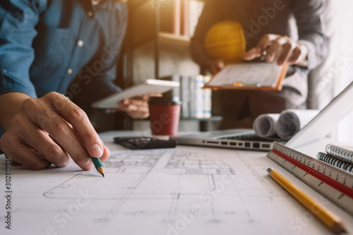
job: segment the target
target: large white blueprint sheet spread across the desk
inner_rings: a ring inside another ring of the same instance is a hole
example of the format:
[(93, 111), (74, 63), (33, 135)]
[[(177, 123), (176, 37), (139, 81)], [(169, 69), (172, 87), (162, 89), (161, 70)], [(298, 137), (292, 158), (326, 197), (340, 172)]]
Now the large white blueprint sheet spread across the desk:
[[(268, 176), (273, 167), (301, 190), (342, 217), (353, 232), (353, 217), (333, 205), (265, 152), (178, 146), (126, 150), (101, 135), (112, 151), (106, 178), (61, 169), (11, 171), (11, 231), (5, 229), (4, 159), (0, 176), (0, 234), (330, 234)], [(318, 152), (318, 146), (306, 150)], [(320, 147), (321, 148), (321, 147)], [(303, 149), (304, 150), (304, 149)]]

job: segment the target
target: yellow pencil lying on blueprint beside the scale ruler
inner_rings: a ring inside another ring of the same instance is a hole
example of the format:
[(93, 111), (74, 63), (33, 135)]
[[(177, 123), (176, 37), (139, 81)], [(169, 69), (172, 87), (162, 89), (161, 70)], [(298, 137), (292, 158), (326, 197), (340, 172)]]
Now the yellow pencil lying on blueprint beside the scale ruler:
[(317, 203), (315, 200), (309, 197), (309, 195), (306, 195), (303, 191), (301, 191), (299, 188), (294, 186), (292, 183), (287, 181), (283, 176), (278, 174), (277, 171), (275, 171), (272, 168), (267, 169), (268, 173), (270, 173), (270, 176), (280, 184), (285, 190), (288, 191), (294, 198), (299, 200), (299, 202), (304, 205), (308, 210), (310, 210), (313, 215), (318, 217), (318, 219), (323, 222), (331, 231), (335, 233), (342, 233), (345, 232), (345, 226), (342, 223), (342, 219), (338, 217), (337, 215), (333, 214), (333, 212), (330, 212), (328, 209)]

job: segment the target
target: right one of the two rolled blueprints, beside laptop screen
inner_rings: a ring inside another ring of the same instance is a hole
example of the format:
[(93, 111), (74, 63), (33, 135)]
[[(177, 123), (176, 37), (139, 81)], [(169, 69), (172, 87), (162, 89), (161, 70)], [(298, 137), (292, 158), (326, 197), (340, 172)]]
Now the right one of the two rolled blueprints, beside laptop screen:
[(316, 109), (288, 109), (280, 114), (275, 123), (275, 131), (283, 140), (289, 140), (303, 126), (305, 126), (314, 116), (318, 114)]

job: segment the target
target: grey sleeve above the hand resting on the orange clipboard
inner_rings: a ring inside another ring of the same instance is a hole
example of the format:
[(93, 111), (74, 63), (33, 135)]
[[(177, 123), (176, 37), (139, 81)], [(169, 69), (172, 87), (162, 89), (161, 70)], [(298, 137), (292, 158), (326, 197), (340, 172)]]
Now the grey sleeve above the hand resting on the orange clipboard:
[(323, 62), (328, 53), (329, 37), (325, 31), (323, 13), (325, 0), (292, 1), (297, 21), (299, 41), (308, 49), (308, 69), (312, 70)]

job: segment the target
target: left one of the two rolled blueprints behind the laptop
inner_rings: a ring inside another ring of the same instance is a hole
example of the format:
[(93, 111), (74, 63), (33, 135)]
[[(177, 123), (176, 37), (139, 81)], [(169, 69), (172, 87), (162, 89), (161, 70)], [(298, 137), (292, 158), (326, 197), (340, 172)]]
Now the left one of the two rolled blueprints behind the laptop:
[(262, 114), (253, 121), (253, 130), (261, 138), (278, 138), (275, 123), (280, 114)]

